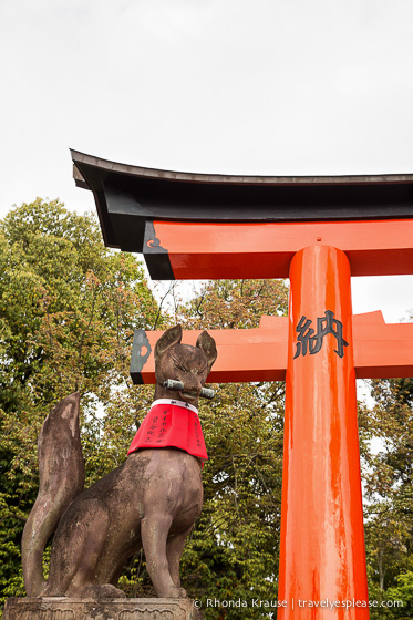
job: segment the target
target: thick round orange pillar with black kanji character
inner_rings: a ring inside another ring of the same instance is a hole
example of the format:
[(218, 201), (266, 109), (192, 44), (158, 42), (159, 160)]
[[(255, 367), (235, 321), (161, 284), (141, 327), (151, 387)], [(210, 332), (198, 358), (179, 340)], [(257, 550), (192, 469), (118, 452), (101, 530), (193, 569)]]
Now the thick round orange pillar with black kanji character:
[[(332, 247), (306, 248), (291, 262), (290, 285), (278, 589), (288, 604), (277, 618), (368, 620), (348, 258)], [(303, 354), (300, 319), (317, 333), (326, 310), (342, 323), (347, 345), (338, 354), (339, 339), (328, 333), (318, 352)], [(300, 604), (353, 599), (366, 607)]]

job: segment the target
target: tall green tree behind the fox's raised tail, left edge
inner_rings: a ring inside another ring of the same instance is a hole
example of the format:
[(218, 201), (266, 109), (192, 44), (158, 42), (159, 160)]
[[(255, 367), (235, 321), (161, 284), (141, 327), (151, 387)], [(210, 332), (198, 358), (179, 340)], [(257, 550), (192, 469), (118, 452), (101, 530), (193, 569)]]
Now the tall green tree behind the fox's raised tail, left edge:
[(37, 495), (37, 436), (45, 415), (79, 390), (86, 484), (117, 465), (149, 400), (128, 379), (133, 330), (151, 327), (156, 316), (142, 267), (104, 247), (92, 216), (37, 199), (1, 221), (3, 598), (23, 593), (20, 538)]

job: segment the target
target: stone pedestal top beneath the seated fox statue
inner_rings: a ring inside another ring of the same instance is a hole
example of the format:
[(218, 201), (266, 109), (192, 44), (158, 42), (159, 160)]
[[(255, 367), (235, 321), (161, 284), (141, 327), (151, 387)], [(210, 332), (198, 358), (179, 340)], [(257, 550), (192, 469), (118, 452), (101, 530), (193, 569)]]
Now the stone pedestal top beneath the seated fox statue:
[(3, 620), (204, 620), (190, 599), (8, 599)]

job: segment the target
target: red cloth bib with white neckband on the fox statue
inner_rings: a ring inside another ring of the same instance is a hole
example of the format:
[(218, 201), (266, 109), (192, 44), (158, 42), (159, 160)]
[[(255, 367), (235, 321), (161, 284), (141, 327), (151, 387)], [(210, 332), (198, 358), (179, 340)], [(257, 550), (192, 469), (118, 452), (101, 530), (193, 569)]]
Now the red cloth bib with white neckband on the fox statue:
[(153, 402), (127, 454), (142, 447), (168, 446), (208, 459), (197, 409), (183, 401), (159, 399)]

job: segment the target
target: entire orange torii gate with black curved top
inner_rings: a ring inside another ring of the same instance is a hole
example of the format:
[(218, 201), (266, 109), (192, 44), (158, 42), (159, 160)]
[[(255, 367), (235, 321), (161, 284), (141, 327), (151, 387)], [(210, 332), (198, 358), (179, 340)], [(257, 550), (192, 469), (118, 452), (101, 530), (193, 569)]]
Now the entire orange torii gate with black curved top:
[[(209, 380), (286, 380), (278, 617), (369, 618), (355, 378), (412, 376), (413, 324), (353, 317), (350, 277), (413, 273), (413, 175), (229, 177), (72, 157), (106, 245), (143, 252), (154, 279), (290, 278), (288, 318), (211, 330)], [(136, 383), (155, 381), (158, 335), (135, 333)], [(303, 604), (327, 600), (338, 604)]]

